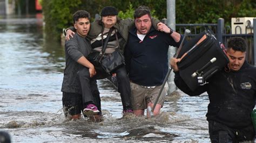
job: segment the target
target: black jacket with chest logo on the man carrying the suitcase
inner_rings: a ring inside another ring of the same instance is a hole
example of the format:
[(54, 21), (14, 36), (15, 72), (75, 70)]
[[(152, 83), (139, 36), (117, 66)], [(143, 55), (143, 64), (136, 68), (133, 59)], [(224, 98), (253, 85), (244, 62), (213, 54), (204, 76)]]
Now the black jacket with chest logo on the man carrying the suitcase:
[(251, 112), (255, 105), (256, 68), (246, 61), (238, 71), (220, 70), (208, 84), (191, 91), (176, 73), (177, 87), (190, 96), (207, 92), (210, 99), (207, 120), (215, 120), (232, 128), (252, 126)]

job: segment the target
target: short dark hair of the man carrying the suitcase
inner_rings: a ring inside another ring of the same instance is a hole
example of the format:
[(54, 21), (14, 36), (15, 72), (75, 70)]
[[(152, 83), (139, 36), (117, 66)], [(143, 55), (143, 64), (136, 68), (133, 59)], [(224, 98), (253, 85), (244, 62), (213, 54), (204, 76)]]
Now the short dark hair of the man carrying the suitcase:
[(241, 37), (232, 37), (227, 41), (227, 48), (234, 51), (246, 52), (247, 44), (245, 39)]

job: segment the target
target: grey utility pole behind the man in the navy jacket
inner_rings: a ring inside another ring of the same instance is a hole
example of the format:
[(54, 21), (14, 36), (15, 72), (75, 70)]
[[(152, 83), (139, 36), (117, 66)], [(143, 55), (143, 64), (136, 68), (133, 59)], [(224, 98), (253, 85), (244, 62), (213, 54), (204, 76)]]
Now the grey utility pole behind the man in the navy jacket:
[[(176, 30), (175, 0), (166, 0), (166, 3), (167, 3), (167, 25), (175, 31)], [(176, 47), (170, 46), (168, 51), (168, 58), (169, 59), (172, 58), (175, 53), (176, 53)], [(177, 89), (174, 83), (173, 72), (171, 72), (167, 83), (169, 85), (168, 95), (170, 95), (173, 91)]]

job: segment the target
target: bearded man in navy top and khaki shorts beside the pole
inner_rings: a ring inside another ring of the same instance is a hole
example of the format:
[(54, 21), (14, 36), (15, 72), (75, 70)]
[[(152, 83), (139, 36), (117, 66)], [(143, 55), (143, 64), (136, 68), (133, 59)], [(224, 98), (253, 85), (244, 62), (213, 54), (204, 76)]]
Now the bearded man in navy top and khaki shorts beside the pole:
[[(152, 108), (156, 101), (168, 71), (169, 46), (178, 47), (181, 35), (163, 23), (158, 24), (159, 31), (154, 29), (150, 10), (146, 6), (139, 6), (133, 16), (135, 27), (129, 31), (125, 62), (131, 84), (132, 109), (139, 116), (144, 115), (147, 106)], [(166, 90), (161, 94), (153, 111), (154, 116), (159, 114), (166, 94)]]

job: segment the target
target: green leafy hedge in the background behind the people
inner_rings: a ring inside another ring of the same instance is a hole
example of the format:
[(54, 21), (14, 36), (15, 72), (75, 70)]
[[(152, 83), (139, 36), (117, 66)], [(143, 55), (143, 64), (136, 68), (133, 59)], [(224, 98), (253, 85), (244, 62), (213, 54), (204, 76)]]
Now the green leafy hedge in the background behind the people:
[[(72, 25), (72, 13), (86, 10), (95, 17), (96, 13), (107, 5), (119, 10), (121, 18), (133, 17), (134, 9), (139, 5), (151, 8), (153, 16), (166, 18), (166, 0), (41, 0), (43, 6), (45, 32), (51, 33), (51, 39), (59, 40), (63, 27)], [(176, 0), (176, 23), (217, 23), (224, 18), (225, 24), (231, 23), (232, 17), (255, 17), (255, 0)]]

